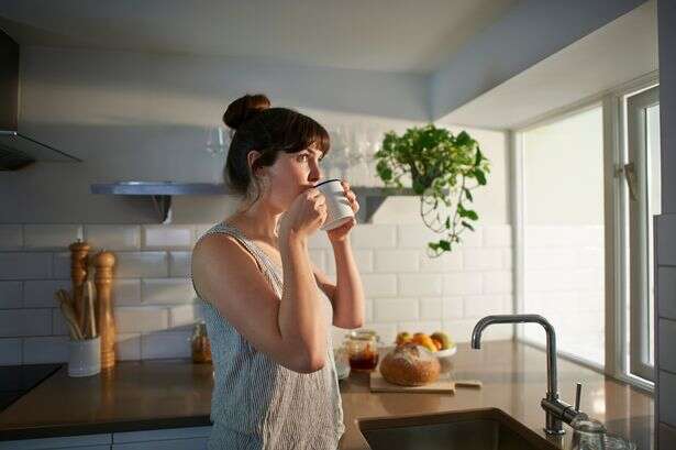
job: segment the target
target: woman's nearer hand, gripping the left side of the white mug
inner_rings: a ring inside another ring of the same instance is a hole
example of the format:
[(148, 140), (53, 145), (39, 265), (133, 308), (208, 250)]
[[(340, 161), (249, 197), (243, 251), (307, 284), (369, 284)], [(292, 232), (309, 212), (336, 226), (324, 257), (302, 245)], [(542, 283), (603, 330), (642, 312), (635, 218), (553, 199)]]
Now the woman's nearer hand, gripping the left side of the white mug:
[(317, 188), (310, 188), (296, 197), (280, 219), (279, 233), (289, 232), (301, 238), (314, 233), (326, 220), (326, 198)]

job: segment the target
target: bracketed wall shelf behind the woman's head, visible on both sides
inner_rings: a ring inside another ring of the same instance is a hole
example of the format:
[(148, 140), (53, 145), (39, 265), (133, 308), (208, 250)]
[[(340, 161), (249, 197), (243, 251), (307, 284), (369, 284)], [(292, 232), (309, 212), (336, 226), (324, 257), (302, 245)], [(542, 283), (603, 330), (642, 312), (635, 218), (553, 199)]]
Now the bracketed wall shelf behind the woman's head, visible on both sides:
[[(185, 195), (228, 195), (228, 187), (217, 183), (177, 182), (118, 182), (90, 186), (91, 194), (151, 197), (157, 216), (163, 223), (170, 223), (171, 197)], [(412, 188), (352, 186), (359, 201), (358, 223), (369, 223), (373, 216), (390, 196), (415, 196)]]

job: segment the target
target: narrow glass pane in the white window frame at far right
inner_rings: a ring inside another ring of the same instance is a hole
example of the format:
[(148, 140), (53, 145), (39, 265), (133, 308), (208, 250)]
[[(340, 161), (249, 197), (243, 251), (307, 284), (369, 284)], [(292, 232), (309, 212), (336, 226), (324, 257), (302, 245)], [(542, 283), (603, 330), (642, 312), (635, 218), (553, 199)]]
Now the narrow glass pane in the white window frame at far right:
[(654, 332), (654, 267), (653, 267), (653, 216), (662, 213), (662, 188), (660, 176), (660, 105), (650, 107), (645, 110), (645, 144), (647, 150), (646, 167), (647, 167), (647, 323), (645, 331), (647, 332), (647, 363), (654, 365), (655, 353), (655, 332)]

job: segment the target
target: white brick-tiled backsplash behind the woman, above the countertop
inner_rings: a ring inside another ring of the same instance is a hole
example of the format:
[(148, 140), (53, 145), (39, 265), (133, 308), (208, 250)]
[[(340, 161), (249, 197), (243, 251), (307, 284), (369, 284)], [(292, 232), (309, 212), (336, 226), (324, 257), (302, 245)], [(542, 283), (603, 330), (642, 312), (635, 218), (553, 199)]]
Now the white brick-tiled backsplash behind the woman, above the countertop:
[[(399, 211), (400, 212), (400, 211)], [(67, 329), (54, 292), (69, 288), (69, 243), (78, 238), (118, 257), (113, 299), (121, 360), (189, 355), (196, 319), (190, 249), (210, 224), (0, 226), (0, 365), (67, 360)], [(510, 227), (479, 228), (463, 249), (430, 260), (431, 233), (417, 221), (359, 224), (353, 249), (366, 293), (367, 327), (392, 341), (397, 331), (443, 329), (467, 341), (476, 320), (511, 311)], [(335, 273), (324, 233), (311, 259)], [(334, 329), (334, 339), (343, 330)], [(509, 327), (488, 338), (509, 338)]]

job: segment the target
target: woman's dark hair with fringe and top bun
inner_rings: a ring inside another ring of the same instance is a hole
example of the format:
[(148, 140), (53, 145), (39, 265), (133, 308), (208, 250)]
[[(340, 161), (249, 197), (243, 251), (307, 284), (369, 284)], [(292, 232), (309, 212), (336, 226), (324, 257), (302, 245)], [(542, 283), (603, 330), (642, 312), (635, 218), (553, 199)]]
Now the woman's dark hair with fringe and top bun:
[[(230, 103), (223, 122), (234, 130), (223, 178), (232, 190), (245, 196), (255, 187), (252, 202), (261, 197), (256, 168), (275, 164), (279, 152), (297, 153), (317, 144), (325, 154), (331, 146), (329, 133), (317, 121), (288, 108), (270, 108), (263, 94), (245, 95)], [(250, 167), (247, 155), (252, 150), (262, 155)]]

